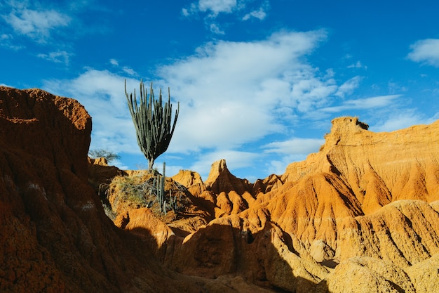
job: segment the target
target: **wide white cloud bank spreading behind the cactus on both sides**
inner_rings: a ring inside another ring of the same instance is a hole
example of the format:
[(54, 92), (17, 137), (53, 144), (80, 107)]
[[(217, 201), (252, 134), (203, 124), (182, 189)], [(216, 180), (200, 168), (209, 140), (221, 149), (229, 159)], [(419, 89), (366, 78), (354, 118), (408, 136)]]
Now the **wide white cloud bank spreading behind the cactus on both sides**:
[[(207, 176), (210, 163), (217, 159), (226, 159), (229, 168), (236, 170), (255, 166), (256, 159), (263, 157), (259, 166), (278, 174), (321, 143), (294, 138), (267, 145), (267, 136), (285, 136), (298, 118), (316, 115), (322, 109), (337, 112), (343, 107), (382, 103), (377, 98), (346, 101), (338, 109), (328, 107), (335, 103), (336, 93), (342, 96), (353, 91), (360, 77), (339, 85), (335, 72), (320, 72), (309, 64), (306, 57), (326, 37), (325, 30), (282, 31), (255, 41), (212, 41), (190, 56), (156, 67), (155, 91), (169, 86), (171, 103), (176, 107), (180, 102), (166, 157), (178, 155), (187, 161), (173, 159), (177, 163), (169, 167), (191, 166)], [(127, 72), (116, 59), (109, 64), (114, 72), (87, 68), (74, 79), (46, 80), (43, 89), (77, 98), (85, 105), (93, 117), (91, 148), (142, 156), (123, 90)], [(138, 86), (138, 79), (127, 79), (128, 92)], [(252, 143), (252, 151), (242, 151)]]

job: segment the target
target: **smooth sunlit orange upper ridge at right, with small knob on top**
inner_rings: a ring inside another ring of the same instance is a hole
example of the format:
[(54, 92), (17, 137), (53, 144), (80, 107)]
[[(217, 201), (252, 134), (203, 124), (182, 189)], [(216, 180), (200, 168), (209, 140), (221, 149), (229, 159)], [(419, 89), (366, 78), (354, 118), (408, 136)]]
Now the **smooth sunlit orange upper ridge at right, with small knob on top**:
[(439, 121), (374, 133), (354, 117), (332, 121), (320, 152), (292, 163), (284, 182), (333, 173), (352, 189), (365, 214), (395, 200), (439, 200)]

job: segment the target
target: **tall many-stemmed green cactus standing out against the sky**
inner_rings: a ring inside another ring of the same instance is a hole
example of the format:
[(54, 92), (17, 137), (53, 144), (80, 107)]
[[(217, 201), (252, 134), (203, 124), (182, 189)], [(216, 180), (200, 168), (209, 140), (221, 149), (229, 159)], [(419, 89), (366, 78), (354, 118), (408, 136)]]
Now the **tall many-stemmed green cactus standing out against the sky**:
[(152, 82), (148, 97), (147, 91), (144, 89), (143, 80), (140, 81), (139, 104), (137, 104), (135, 90), (134, 95), (133, 93), (128, 95), (126, 91), (126, 80), (125, 95), (131, 117), (133, 118), (137, 134), (137, 143), (144, 156), (148, 159), (148, 169), (151, 170), (154, 166), (154, 160), (168, 150), (170, 139), (174, 134), (175, 124), (177, 124), (180, 103), (178, 103), (177, 110), (175, 110), (174, 122), (171, 123), (173, 105), (170, 103), (169, 88), (168, 102), (165, 103), (164, 108), (161, 98), (161, 89), (158, 100), (156, 100), (154, 98)]

